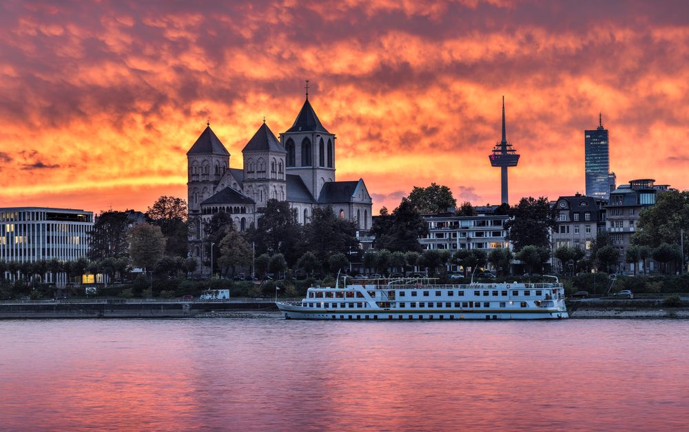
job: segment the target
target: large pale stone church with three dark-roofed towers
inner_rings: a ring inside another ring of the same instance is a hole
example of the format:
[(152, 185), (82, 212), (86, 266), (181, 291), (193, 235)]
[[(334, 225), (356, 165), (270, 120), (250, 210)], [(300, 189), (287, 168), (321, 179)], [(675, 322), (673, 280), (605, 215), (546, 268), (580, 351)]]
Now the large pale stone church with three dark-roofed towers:
[[(237, 230), (256, 224), (269, 199), (287, 201), (307, 224), (313, 208), (371, 228), (371, 195), (364, 180), (336, 181), (336, 136), (322, 125), (309, 94), (294, 124), (276, 138), (263, 121), (242, 150), (244, 167), (230, 168), (230, 154), (207, 124), (187, 152), (189, 253), (202, 258), (203, 225), (214, 214), (232, 216)], [(203, 260), (202, 260), (203, 261)]]

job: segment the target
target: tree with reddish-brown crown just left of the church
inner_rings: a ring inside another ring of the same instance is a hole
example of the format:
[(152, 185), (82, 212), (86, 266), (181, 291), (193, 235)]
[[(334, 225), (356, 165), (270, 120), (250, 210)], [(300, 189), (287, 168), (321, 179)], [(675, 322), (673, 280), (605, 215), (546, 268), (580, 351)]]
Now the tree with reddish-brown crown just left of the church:
[(165, 236), (165, 253), (178, 257), (187, 256), (189, 228), (187, 226), (187, 202), (184, 199), (163, 195), (146, 212), (152, 225), (161, 227)]

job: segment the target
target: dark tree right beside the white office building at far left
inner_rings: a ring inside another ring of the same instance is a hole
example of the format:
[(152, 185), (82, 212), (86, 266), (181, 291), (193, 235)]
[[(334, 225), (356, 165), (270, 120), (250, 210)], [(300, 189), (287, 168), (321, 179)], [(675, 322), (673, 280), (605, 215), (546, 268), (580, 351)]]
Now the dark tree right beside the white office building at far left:
[(127, 213), (112, 210), (101, 212), (89, 233), (89, 259), (98, 261), (107, 257), (127, 257), (128, 228)]

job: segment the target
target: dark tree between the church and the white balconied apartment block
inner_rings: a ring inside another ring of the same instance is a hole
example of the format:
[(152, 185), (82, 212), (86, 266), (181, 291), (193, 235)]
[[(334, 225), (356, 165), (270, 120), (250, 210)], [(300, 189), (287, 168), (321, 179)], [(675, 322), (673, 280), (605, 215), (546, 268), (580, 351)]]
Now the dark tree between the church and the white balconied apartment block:
[(392, 215), (377, 217), (371, 231), (376, 236), (375, 245), (378, 249), (387, 249), (391, 252), (420, 252), (422, 247), (419, 237), (428, 233), (428, 226), (422, 215), (405, 197), (393, 210)]

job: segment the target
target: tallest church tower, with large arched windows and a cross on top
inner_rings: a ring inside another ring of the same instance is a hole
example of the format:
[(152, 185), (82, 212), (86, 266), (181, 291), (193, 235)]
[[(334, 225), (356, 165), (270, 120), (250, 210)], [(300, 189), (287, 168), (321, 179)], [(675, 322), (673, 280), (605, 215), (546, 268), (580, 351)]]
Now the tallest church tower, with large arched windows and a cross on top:
[(306, 84), (304, 105), (294, 125), (280, 134), (280, 143), (287, 153), (287, 173), (299, 175), (318, 200), (323, 185), (335, 181), (335, 134), (318, 120), (309, 102), (309, 80)]

